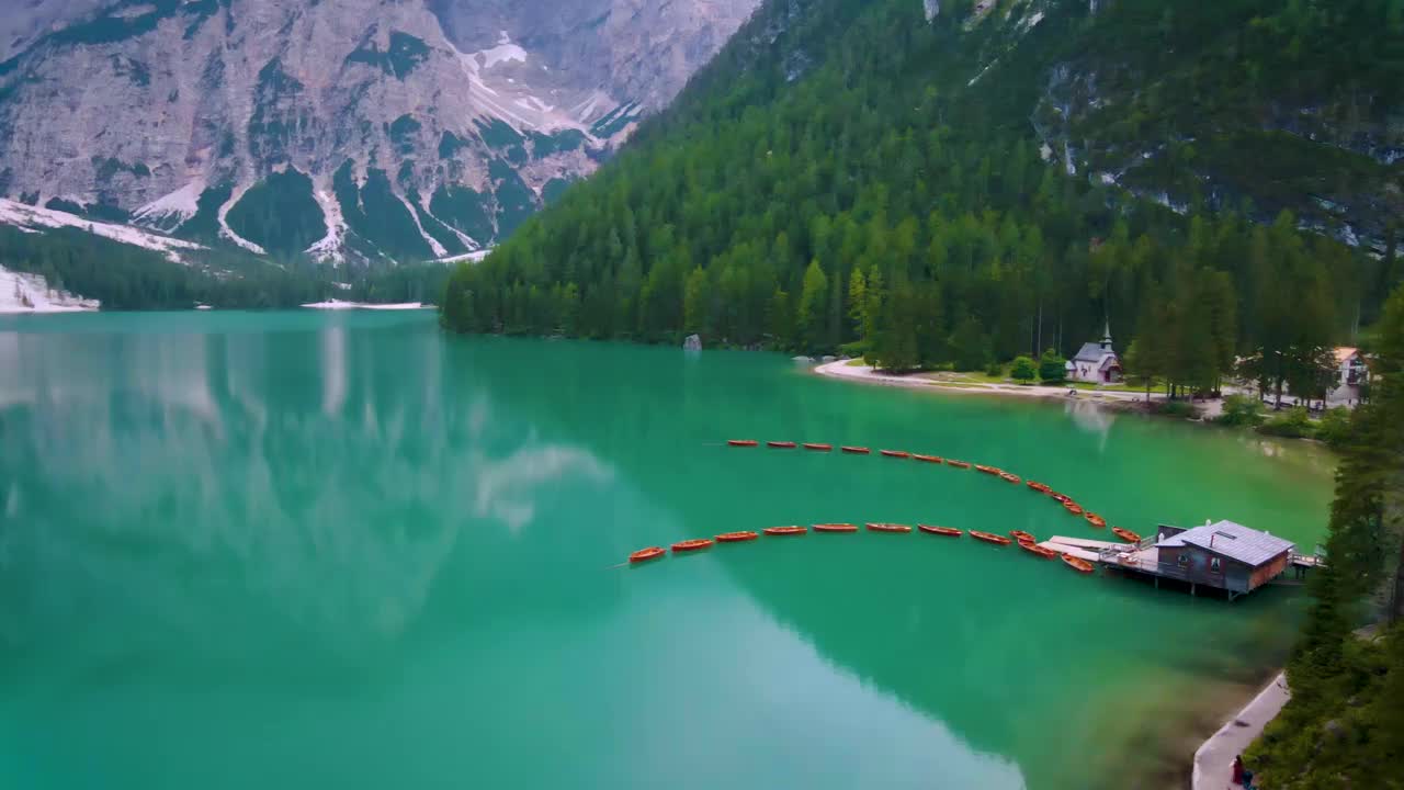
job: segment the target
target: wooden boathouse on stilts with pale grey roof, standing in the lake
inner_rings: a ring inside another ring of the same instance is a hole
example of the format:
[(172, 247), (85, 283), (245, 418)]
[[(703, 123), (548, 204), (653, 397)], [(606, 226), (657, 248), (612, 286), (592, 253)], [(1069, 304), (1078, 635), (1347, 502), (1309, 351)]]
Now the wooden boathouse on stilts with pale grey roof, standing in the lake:
[(1316, 564), (1299, 557), (1296, 544), (1271, 533), (1248, 529), (1234, 522), (1205, 523), (1202, 527), (1163, 524), (1154, 538), (1130, 551), (1104, 551), (1099, 557), (1108, 571), (1132, 576), (1161, 579), (1199, 589), (1220, 590), (1233, 600), (1280, 576), (1289, 566), (1299, 575)]

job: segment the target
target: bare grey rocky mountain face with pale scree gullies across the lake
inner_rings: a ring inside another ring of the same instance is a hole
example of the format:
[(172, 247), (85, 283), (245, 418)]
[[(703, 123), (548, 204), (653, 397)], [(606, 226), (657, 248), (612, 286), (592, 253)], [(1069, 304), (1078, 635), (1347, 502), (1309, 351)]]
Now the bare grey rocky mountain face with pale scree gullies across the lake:
[(256, 253), (490, 246), (757, 0), (44, 0), (0, 22), (0, 197)]

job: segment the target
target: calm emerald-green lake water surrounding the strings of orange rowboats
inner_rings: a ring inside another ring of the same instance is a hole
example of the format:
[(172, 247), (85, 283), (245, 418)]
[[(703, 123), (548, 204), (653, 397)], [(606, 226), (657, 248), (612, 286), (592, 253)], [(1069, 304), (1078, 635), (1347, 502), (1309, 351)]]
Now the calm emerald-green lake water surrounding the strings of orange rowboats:
[(920, 534), (615, 566), (790, 523), (1101, 536), (986, 475), (727, 437), (1001, 465), (1147, 533), (1311, 545), (1331, 488), (1302, 443), (765, 354), (0, 319), (0, 786), (1126, 787), (1303, 609)]

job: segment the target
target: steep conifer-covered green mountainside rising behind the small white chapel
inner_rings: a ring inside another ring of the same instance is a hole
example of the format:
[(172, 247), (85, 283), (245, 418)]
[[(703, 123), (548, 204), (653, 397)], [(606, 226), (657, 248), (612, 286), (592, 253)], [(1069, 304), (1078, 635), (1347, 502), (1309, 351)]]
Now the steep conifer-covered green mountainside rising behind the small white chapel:
[(1261, 350), (1280, 381), (1404, 273), (1393, 208), (1365, 243), (1349, 219), (1400, 200), (1400, 41), (1397, 0), (771, 1), (615, 162), (459, 267), (444, 320), (855, 344), (897, 370), (1068, 351), (1109, 320), (1141, 373), (1212, 387)]

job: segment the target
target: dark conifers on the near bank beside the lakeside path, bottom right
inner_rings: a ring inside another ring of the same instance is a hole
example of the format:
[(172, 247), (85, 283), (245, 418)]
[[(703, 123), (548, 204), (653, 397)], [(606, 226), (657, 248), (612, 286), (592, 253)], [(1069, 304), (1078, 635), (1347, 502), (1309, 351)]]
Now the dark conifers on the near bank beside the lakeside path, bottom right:
[[(1262, 787), (1404, 787), (1404, 288), (1379, 335), (1377, 392), (1337, 471), (1331, 564), (1287, 665), (1292, 700), (1247, 755)], [(1379, 620), (1363, 637), (1362, 619)]]

